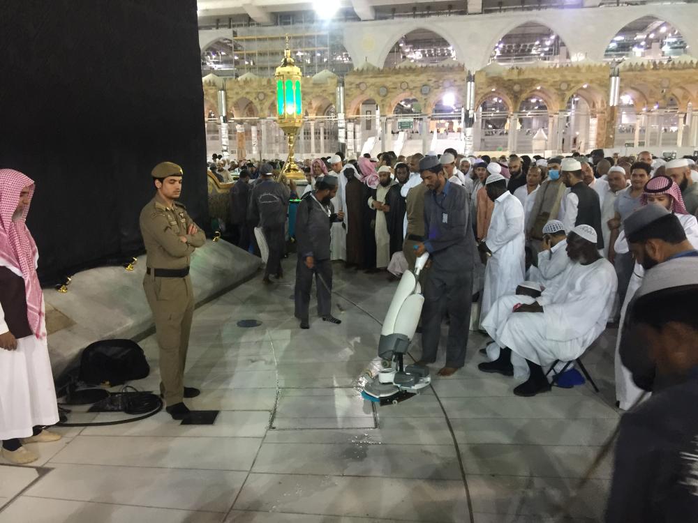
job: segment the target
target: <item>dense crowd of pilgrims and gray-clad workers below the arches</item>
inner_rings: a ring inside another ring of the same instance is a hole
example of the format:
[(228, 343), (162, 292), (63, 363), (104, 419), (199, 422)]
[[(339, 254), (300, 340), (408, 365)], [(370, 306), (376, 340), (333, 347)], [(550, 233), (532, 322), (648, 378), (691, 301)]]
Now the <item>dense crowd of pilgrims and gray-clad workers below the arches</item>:
[[(419, 365), (436, 361), (444, 321), (443, 376), (463, 366), (469, 331), (479, 330), (489, 335), (481, 349), (489, 361), (480, 370), (521, 379), (514, 394), (533, 396), (549, 391), (551, 381), (584, 383), (582, 354), (607, 326), (622, 324), (644, 272), (625, 230), (634, 211), (649, 204), (666, 209), (698, 245), (694, 166), (693, 158), (664, 160), (648, 151), (490, 158), (446, 149), (350, 160), (338, 153), (306, 160), (307, 184), (296, 185), (279, 175), (280, 163), (248, 163), (236, 165), (230, 221), (242, 248), (259, 252), (264, 238), (263, 281), (271, 283), (283, 278), (288, 202), (300, 199), (292, 229), (302, 328), (309, 328), (313, 277), (318, 315), (340, 322), (331, 312), (332, 261), (385, 271), (392, 281), (429, 252), (420, 275)], [(641, 390), (620, 361), (620, 338), (616, 399), (629, 409)]]

